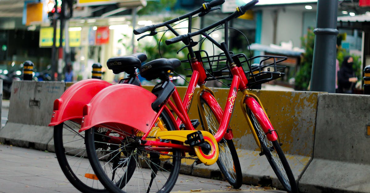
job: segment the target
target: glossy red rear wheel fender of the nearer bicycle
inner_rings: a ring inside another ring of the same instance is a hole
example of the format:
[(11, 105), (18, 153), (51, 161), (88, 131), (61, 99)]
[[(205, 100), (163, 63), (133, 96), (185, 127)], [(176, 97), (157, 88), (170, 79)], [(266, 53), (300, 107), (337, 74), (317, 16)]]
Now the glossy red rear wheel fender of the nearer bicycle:
[(157, 115), (151, 107), (156, 98), (150, 91), (135, 85), (117, 84), (107, 87), (84, 106), (80, 132), (104, 124), (115, 129), (130, 129), (128, 132), (139, 129), (147, 133)]

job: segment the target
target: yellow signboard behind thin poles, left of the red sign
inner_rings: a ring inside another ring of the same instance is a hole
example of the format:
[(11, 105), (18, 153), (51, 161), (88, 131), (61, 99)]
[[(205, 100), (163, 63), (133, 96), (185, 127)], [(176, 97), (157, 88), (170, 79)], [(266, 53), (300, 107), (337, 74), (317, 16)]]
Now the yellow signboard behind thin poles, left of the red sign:
[[(53, 27), (43, 27), (40, 29), (40, 47), (51, 47), (53, 46)], [(68, 31), (69, 46), (79, 47), (81, 45), (81, 31)], [(56, 47), (59, 47), (60, 29), (57, 28)], [(64, 40), (63, 40), (64, 46)]]

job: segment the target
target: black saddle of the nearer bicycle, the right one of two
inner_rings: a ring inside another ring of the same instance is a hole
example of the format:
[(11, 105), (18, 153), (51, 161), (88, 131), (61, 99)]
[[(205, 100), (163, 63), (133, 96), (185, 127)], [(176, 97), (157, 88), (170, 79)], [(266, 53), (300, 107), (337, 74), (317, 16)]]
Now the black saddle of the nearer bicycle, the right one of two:
[(169, 78), (169, 72), (174, 71), (180, 65), (181, 61), (176, 58), (159, 58), (142, 65), (140, 75), (148, 81), (157, 78), (166, 80)]

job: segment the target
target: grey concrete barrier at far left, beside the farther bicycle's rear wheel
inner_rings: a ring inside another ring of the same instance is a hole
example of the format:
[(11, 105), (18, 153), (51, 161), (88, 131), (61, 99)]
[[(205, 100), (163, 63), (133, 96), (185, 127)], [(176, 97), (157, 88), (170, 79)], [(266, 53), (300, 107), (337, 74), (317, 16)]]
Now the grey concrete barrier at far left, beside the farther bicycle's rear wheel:
[(47, 126), (53, 102), (64, 89), (64, 82), (13, 82), (8, 122), (0, 130), (0, 142), (46, 150), (53, 138), (53, 128)]

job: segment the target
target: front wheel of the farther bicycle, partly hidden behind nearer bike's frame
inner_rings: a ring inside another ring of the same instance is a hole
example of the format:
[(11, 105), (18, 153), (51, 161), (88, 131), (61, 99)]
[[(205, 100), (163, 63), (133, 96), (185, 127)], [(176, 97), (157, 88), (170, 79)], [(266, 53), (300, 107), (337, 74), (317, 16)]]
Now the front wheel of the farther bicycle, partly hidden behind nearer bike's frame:
[[(200, 98), (200, 102), (202, 105), (203, 112), (206, 118), (206, 125), (203, 124), (202, 116), (199, 112), (199, 117), (201, 119), (202, 128), (204, 131), (210, 132), (212, 135), (215, 135), (219, 128), (219, 122), (216, 119), (215, 113), (212, 111), (211, 107), (207, 102)], [(198, 109), (199, 111), (199, 109)], [(240, 167), (238, 153), (236, 153), (236, 149), (234, 146), (234, 142), (232, 140), (228, 140), (222, 138), (220, 142), (218, 142), (219, 147), (219, 156), (217, 160), (217, 165), (221, 170), (223, 177), (228, 180), (231, 186), (235, 189), (238, 189), (242, 186), (242, 170)]]

